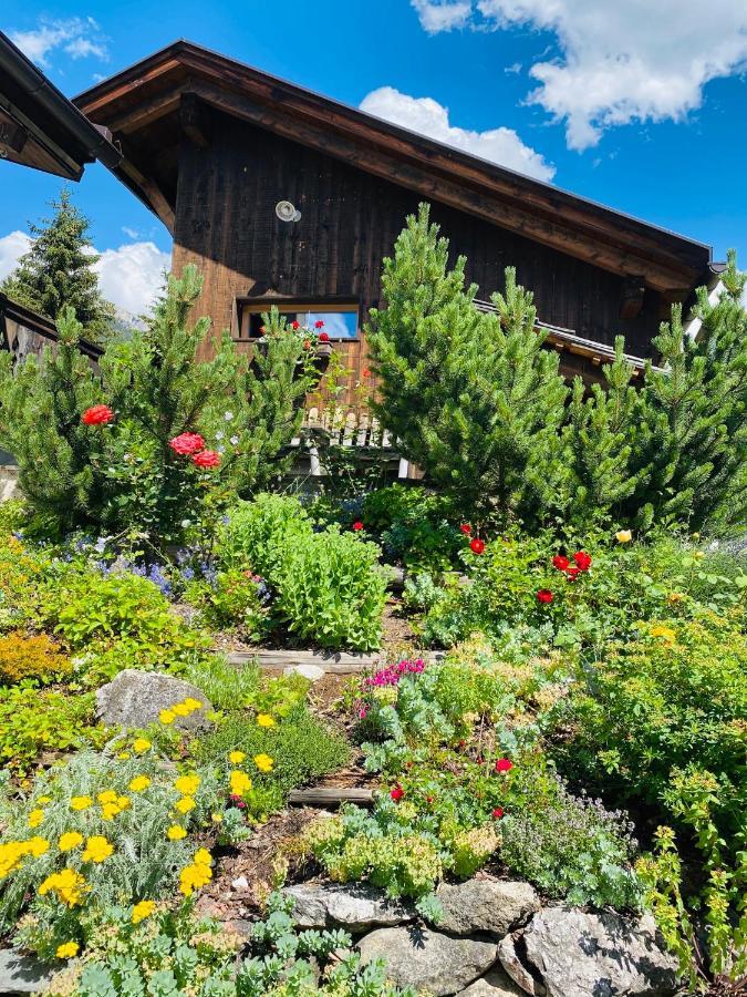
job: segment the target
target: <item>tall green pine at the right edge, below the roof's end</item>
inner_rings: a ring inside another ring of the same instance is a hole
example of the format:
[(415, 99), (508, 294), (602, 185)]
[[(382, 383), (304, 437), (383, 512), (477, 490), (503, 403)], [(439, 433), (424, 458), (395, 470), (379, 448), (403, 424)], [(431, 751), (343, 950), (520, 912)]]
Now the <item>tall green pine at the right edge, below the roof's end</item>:
[(720, 299), (697, 291), (697, 339), (682, 323), (682, 307), (662, 325), (654, 346), (662, 366), (649, 364), (641, 395), (631, 472), (637, 485), (625, 503), (631, 521), (687, 521), (718, 530), (747, 520), (746, 275), (728, 254)]

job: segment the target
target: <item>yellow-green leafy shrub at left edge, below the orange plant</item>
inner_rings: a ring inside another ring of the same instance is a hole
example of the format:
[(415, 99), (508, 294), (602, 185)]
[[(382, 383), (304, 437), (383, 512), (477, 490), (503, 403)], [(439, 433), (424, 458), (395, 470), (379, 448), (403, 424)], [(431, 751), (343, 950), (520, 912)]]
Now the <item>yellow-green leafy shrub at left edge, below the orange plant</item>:
[(70, 751), (103, 741), (93, 693), (64, 696), (51, 689), (0, 689), (0, 759), (27, 771), (42, 751)]

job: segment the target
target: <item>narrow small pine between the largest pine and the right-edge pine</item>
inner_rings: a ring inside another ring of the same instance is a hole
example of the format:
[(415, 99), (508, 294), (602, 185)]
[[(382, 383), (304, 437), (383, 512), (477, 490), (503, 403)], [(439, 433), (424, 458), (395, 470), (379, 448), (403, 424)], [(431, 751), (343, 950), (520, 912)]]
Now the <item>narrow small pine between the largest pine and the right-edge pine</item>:
[(604, 387), (592, 384), (587, 397), (583, 380), (573, 381), (563, 433), (571, 470), (567, 516), (572, 522), (585, 524), (618, 511), (636, 487), (630, 462), (639, 393), (631, 384), (634, 368), (623, 349), (619, 336), (615, 359), (604, 367)]

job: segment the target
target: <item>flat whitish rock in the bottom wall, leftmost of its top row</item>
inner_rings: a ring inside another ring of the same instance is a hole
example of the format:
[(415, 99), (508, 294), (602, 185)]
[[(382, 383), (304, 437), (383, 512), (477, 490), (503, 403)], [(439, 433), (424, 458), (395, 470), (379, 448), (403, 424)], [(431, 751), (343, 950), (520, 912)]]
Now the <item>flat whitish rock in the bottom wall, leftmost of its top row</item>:
[(371, 886), (303, 883), (284, 891), (295, 902), (293, 916), (302, 928), (341, 927), (363, 934), (375, 927), (388, 927), (413, 921), (415, 912), (388, 900)]

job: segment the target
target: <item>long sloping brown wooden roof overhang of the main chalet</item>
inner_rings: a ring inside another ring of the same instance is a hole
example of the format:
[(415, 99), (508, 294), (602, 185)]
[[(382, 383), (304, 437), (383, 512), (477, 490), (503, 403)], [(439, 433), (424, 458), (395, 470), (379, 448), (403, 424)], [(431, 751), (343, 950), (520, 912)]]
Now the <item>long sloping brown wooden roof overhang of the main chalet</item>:
[(173, 229), (183, 133), (209, 144), (205, 105), (649, 287), (686, 297), (710, 249), (177, 41), (74, 99), (121, 143), (120, 178)]

